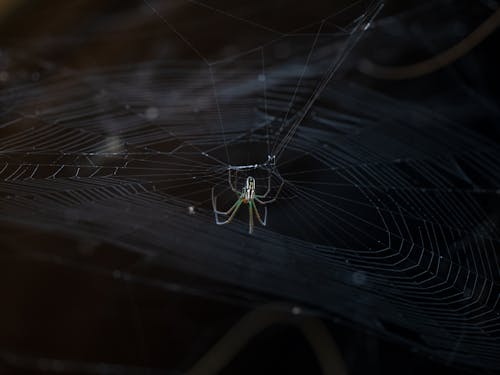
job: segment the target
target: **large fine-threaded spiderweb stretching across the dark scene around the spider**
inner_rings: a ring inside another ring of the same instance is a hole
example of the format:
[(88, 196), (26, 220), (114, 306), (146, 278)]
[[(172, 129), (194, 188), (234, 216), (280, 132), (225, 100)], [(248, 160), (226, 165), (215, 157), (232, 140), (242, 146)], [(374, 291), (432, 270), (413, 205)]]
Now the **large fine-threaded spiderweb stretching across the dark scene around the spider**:
[[(296, 14), (287, 30), (261, 3), (247, 14), (175, 4), (202, 30), (218, 25), (206, 44), (172, 23), (175, 9), (147, 1), (137, 38), (162, 35), (154, 58), (63, 67), (40, 52), (43, 39), (31, 54), (3, 53), (13, 68), (0, 93), (2, 221), (135, 254), (112, 267), (68, 249), (36, 254), (49, 262), (242, 303), (257, 303), (245, 291), (288, 299), (498, 368), (498, 145), (336, 79), (381, 3)], [(214, 40), (230, 47), (204, 48)], [(68, 43), (84, 42), (50, 40)], [(252, 236), (246, 212), (214, 223), (211, 189), (234, 202), (229, 170), (240, 188), (248, 175), (258, 189), (271, 178), (274, 193), (284, 181)], [(194, 290), (150, 272), (167, 265), (234, 288)]]

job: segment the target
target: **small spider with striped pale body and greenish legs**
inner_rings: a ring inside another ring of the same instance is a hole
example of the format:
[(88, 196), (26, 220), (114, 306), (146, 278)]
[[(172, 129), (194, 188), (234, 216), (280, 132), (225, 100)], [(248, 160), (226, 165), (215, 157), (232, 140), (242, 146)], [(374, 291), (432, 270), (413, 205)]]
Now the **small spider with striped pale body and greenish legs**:
[[(236, 173), (237, 175), (237, 173)], [(248, 227), (248, 233), (252, 234), (253, 233), (253, 227), (254, 227), (254, 213), (255, 217), (257, 217), (257, 220), (259, 223), (263, 226), (266, 226), (267, 223), (267, 207), (266, 205), (269, 203), (272, 203), (276, 201), (278, 198), (278, 195), (281, 191), (281, 188), (283, 187), (284, 181), (283, 179), (281, 180), (281, 185), (279, 186), (276, 195), (272, 199), (268, 200), (263, 200), (265, 199), (269, 193), (271, 192), (271, 175), (269, 175), (269, 178), (267, 180), (267, 190), (264, 194), (257, 194), (255, 189), (256, 189), (256, 183), (255, 183), (255, 178), (252, 176), (247, 177), (245, 186), (243, 187), (242, 191), (239, 191), (236, 189), (233, 185), (233, 181), (231, 178), (231, 170), (229, 170), (228, 174), (228, 181), (229, 181), (229, 186), (231, 187), (231, 190), (236, 193), (238, 196), (238, 200), (234, 202), (234, 204), (231, 206), (231, 208), (227, 211), (219, 211), (217, 209), (217, 198), (214, 195), (214, 188), (212, 188), (212, 206), (214, 209), (214, 214), (215, 214), (215, 222), (218, 225), (224, 225), (224, 224), (229, 224), (236, 213), (238, 212), (239, 208), (241, 207), (242, 204), (247, 204), (248, 205), (248, 213), (249, 213), (249, 227)], [(264, 206), (264, 219), (260, 216), (259, 210), (257, 208), (256, 203), (259, 203)], [(219, 215), (223, 216), (229, 216), (226, 220), (219, 220)]]

